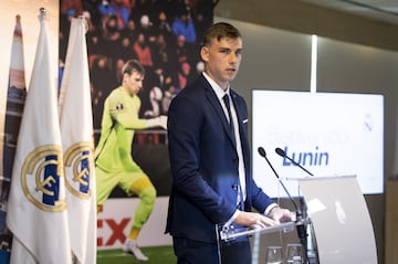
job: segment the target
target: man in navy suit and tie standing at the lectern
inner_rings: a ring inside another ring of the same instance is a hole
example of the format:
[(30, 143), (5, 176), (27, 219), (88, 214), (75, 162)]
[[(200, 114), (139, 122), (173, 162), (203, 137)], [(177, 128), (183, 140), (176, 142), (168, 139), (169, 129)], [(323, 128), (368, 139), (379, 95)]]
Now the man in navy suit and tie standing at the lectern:
[(178, 264), (247, 264), (249, 239), (223, 243), (220, 250), (216, 226), (263, 228), (291, 221), (292, 213), (250, 176), (247, 104), (230, 88), (242, 59), (239, 30), (213, 24), (200, 55), (205, 72), (171, 101), (168, 114), (172, 189), (166, 232), (172, 235)]

